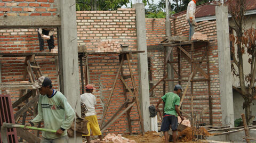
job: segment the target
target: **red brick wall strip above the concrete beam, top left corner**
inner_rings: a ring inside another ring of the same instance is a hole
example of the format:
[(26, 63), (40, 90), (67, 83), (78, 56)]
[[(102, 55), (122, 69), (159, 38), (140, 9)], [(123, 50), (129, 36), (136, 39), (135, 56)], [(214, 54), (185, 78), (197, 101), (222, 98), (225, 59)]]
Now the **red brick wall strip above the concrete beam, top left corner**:
[(0, 2), (0, 16), (50, 16), (58, 12), (54, 0), (3, 0)]

